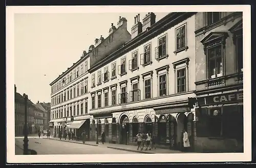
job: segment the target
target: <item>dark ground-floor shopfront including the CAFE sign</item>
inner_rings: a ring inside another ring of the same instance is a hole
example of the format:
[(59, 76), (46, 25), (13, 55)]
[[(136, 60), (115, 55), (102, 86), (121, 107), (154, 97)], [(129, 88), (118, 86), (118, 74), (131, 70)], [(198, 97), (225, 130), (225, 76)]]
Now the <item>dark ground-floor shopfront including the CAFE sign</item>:
[(198, 97), (197, 101), (196, 127), (199, 150), (241, 152), (243, 91)]

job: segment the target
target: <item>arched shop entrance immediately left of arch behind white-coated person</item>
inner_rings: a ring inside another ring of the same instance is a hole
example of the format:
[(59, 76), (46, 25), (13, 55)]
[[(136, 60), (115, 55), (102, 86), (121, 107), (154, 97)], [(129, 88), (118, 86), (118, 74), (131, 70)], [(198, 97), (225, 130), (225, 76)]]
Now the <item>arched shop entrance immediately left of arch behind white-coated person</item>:
[(166, 134), (169, 137), (170, 148), (176, 148), (177, 122), (172, 115), (167, 116)]

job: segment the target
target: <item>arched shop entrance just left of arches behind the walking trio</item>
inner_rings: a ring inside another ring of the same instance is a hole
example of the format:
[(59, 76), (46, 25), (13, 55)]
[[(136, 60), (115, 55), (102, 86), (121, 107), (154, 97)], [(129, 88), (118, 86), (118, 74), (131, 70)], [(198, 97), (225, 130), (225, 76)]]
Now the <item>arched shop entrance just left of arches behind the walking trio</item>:
[(128, 138), (129, 138), (129, 118), (126, 115), (123, 115), (120, 118), (120, 126), (121, 126), (121, 131), (120, 131), (120, 144), (125, 144), (127, 145), (128, 143)]

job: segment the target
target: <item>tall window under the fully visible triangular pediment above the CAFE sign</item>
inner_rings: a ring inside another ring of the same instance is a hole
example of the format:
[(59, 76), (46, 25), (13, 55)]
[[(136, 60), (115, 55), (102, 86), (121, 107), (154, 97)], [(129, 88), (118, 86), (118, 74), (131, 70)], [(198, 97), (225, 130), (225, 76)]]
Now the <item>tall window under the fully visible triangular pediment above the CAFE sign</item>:
[(209, 78), (222, 76), (222, 46), (217, 45), (208, 49)]

